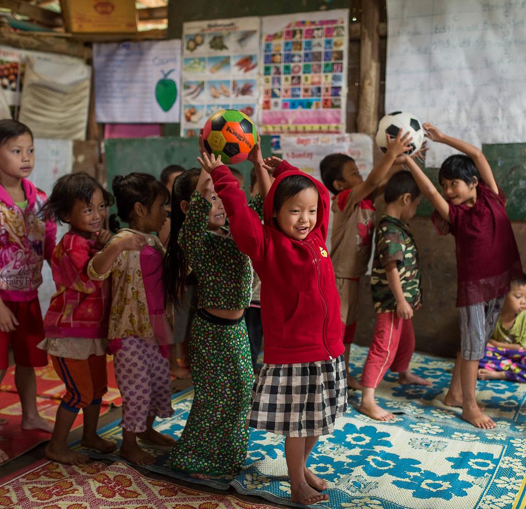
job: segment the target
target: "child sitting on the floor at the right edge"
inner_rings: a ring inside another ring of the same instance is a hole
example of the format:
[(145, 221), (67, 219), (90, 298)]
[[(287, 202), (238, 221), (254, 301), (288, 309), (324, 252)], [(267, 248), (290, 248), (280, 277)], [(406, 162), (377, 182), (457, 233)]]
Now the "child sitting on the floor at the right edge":
[(511, 282), (495, 330), (479, 360), (481, 380), (526, 382), (526, 276)]

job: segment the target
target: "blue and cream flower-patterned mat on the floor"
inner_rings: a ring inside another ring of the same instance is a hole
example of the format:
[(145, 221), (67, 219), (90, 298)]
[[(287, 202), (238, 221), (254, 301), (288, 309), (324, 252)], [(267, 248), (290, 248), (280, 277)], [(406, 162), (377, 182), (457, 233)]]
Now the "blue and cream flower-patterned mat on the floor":
[[(367, 348), (352, 346), (351, 370), (359, 376)], [(379, 403), (396, 414), (389, 422), (374, 421), (356, 411), (359, 392), (349, 392), (349, 409), (332, 435), (321, 437), (309, 468), (328, 481), (330, 498), (316, 506), (352, 509), (508, 509), (526, 474), (526, 384), (481, 382), (478, 400), (497, 422), (478, 430), (459, 418), (460, 409), (441, 400), (451, 379), (449, 359), (415, 354), (411, 369), (433, 381), (431, 387), (399, 386), (388, 372), (378, 388)], [(175, 414), (155, 428), (179, 437), (191, 406), (193, 389), (173, 397)], [(118, 421), (100, 434), (120, 443)], [(206, 440), (206, 437), (203, 437)], [(270, 502), (290, 501), (284, 437), (252, 430), (244, 470), (235, 477), (201, 481), (173, 472), (167, 448), (142, 446), (157, 457), (149, 470), (218, 489), (233, 486), (242, 494)], [(80, 448), (80, 446), (77, 446)], [(94, 458), (122, 461), (83, 450)]]

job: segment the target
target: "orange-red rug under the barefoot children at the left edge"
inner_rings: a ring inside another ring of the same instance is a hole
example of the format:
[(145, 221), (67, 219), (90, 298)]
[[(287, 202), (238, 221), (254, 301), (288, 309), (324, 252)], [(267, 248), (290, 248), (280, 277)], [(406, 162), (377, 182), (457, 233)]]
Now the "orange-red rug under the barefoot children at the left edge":
[[(37, 408), (45, 419), (55, 421), (55, 413), (64, 394), (64, 384), (58, 378), (51, 362), (44, 368), (36, 368)], [(21, 407), (15, 387), (15, 367), (8, 368), (0, 386), (0, 449), (13, 460), (33, 449), (39, 443), (49, 440), (44, 431), (25, 431), (20, 427)], [(100, 414), (107, 413), (112, 406), (120, 407), (122, 400), (115, 382), (113, 359), (108, 357), (108, 392), (103, 398)], [(72, 430), (82, 425), (82, 412), (75, 420)], [(0, 505), (2, 507), (2, 505)]]

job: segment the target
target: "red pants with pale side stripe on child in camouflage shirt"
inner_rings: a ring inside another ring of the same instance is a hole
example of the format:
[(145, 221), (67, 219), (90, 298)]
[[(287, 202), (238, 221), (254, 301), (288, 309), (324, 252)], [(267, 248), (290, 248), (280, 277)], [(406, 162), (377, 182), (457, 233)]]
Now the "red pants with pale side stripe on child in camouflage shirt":
[(376, 315), (375, 337), (363, 367), (361, 385), (377, 388), (386, 371), (406, 371), (414, 351), (411, 319), (399, 318), (395, 311)]

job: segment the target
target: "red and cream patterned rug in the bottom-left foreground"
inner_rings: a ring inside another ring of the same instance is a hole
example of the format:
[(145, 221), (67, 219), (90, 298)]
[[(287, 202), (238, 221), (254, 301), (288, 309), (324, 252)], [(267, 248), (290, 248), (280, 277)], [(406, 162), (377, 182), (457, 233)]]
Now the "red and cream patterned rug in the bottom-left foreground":
[(0, 507), (19, 509), (272, 509), (156, 481), (124, 463), (68, 466), (41, 461), (0, 484)]

